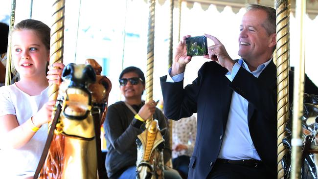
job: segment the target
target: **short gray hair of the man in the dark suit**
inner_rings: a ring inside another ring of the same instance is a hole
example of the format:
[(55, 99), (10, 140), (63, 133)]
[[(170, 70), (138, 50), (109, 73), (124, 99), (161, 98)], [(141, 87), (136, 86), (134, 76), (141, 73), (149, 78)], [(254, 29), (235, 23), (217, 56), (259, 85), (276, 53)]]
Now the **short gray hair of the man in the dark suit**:
[(262, 26), (266, 29), (268, 35), (276, 33), (276, 10), (272, 7), (263, 6), (259, 4), (249, 4), (246, 7), (247, 11), (263, 10), (267, 14), (267, 20), (262, 23)]

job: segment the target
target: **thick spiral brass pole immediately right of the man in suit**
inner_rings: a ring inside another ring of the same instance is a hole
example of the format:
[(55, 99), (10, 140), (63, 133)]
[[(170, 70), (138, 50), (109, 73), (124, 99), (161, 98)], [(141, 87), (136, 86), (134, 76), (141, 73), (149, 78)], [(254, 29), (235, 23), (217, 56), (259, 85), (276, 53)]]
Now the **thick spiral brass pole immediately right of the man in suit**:
[(289, 0), (276, 0), (277, 179), (284, 178), (282, 158), (287, 153), (282, 139), (289, 119), (289, 9)]

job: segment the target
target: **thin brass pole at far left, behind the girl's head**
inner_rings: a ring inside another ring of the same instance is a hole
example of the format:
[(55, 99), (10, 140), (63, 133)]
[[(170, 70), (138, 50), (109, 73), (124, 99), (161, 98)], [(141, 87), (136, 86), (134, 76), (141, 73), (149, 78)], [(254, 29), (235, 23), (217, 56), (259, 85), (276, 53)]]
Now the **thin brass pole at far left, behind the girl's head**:
[(5, 69), (5, 85), (11, 85), (11, 35), (14, 27), (14, 18), (16, 15), (16, 0), (11, 1), (11, 14), (10, 14), (10, 24), (9, 24), (9, 40), (8, 40), (8, 50), (7, 50), (7, 63)]

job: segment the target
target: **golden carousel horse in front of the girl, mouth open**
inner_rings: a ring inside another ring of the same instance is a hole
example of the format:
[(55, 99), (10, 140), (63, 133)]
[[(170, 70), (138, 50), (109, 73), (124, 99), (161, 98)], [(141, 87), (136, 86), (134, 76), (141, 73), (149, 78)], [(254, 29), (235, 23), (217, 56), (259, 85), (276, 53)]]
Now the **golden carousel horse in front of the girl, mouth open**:
[[(100, 126), (107, 112), (110, 80), (93, 59), (69, 64), (62, 72), (50, 133), (34, 179), (98, 179), (101, 169)], [(49, 140), (50, 139), (50, 140)], [(47, 155), (46, 155), (47, 154)], [(44, 157), (43, 157), (44, 156)], [(45, 158), (44, 162), (41, 162)], [(98, 176), (97, 176), (98, 174)]]

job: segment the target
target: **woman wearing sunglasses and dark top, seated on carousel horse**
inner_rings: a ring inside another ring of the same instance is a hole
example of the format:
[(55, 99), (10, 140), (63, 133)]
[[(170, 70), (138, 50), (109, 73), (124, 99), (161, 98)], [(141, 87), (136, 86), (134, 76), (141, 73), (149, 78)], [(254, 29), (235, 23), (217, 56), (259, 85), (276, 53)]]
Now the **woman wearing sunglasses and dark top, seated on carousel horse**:
[[(127, 67), (119, 75), (119, 88), (125, 97), (109, 106), (104, 122), (108, 153), (106, 170), (110, 179), (136, 179), (137, 146), (136, 138), (142, 133), (144, 122), (153, 116), (159, 121), (160, 129), (167, 127), (167, 119), (156, 108), (157, 103), (147, 104), (141, 100), (145, 90), (145, 76), (137, 67)], [(171, 158), (169, 132), (163, 138), (165, 147), (163, 159), (166, 163)], [(175, 170), (164, 171), (166, 179), (181, 179)]]

